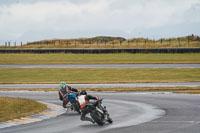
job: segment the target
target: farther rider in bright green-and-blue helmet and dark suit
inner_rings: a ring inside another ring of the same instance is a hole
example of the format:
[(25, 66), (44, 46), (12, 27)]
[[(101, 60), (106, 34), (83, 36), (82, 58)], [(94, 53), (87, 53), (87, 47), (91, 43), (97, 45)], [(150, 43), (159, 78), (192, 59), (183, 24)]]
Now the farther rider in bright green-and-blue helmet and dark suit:
[(59, 98), (61, 101), (63, 101), (63, 107), (66, 108), (66, 105), (68, 103), (67, 101), (67, 93), (70, 91), (72, 92), (78, 92), (77, 89), (72, 88), (71, 86), (67, 85), (66, 82), (60, 83), (60, 91), (59, 91)]

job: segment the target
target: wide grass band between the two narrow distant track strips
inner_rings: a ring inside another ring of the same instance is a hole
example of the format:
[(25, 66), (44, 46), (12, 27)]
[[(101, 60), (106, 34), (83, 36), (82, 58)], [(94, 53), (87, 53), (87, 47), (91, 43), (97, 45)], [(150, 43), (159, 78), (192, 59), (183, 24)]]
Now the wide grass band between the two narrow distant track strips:
[(144, 83), (200, 82), (200, 69), (0, 69), (0, 83)]

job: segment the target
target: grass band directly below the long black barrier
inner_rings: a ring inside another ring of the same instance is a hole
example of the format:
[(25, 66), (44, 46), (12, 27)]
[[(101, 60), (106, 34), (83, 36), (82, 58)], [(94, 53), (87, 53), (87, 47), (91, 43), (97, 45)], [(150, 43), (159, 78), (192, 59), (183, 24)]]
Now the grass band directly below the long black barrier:
[(199, 64), (200, 54), (0, 54), (0, 64)]

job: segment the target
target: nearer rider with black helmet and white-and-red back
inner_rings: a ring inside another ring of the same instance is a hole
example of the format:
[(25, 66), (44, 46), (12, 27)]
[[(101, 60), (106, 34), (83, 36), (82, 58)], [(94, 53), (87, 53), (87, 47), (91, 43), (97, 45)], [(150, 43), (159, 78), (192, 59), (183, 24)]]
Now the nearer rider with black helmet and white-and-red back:
[(98, 100), (98, 97), (94, 97), (91, 95), (87, 95), (87, 92), (85, 90), (82, 90), (80, 93), (80, 96), (78, 96), (78, 101), (81, 108), (81, 120), (82, 121), (91, 121), (92, 123), (95, 123), (93, 119), (86, 117), (88, 112), (88, 102), (90, 99)]

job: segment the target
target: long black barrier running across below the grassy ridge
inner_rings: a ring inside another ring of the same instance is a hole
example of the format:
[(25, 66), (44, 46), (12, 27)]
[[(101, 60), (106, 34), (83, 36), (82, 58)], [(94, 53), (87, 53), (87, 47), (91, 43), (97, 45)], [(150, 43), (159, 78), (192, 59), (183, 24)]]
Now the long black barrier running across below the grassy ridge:
[(0, 53), (200, 53), (200, 48), (159, 48), (159, 49), (0, 49)]

